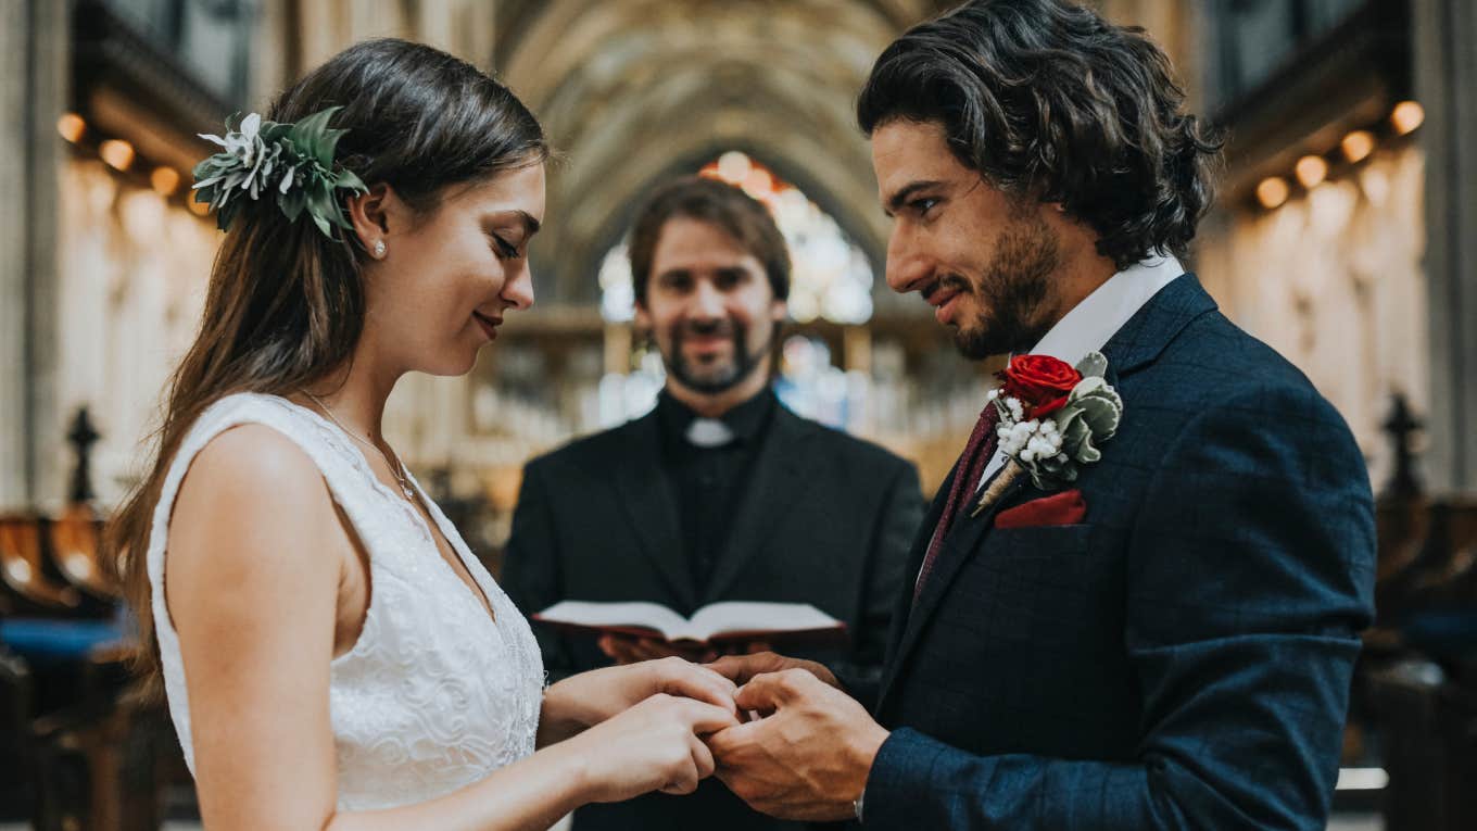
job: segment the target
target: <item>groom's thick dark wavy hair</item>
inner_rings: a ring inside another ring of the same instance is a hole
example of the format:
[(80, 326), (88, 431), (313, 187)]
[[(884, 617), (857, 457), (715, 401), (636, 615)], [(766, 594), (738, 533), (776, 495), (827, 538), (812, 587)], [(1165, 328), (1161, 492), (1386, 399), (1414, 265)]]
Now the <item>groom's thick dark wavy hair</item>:
[(973, 0), (877, 58), (857, 121), (867, 135), (942, 124), (962, 164), (1060, 203), (1121, 269), (1156, 248), (1183, 254), (1210, 207), (1223, 142), (1183, 105), (1142, 28), (1065, 0)]

